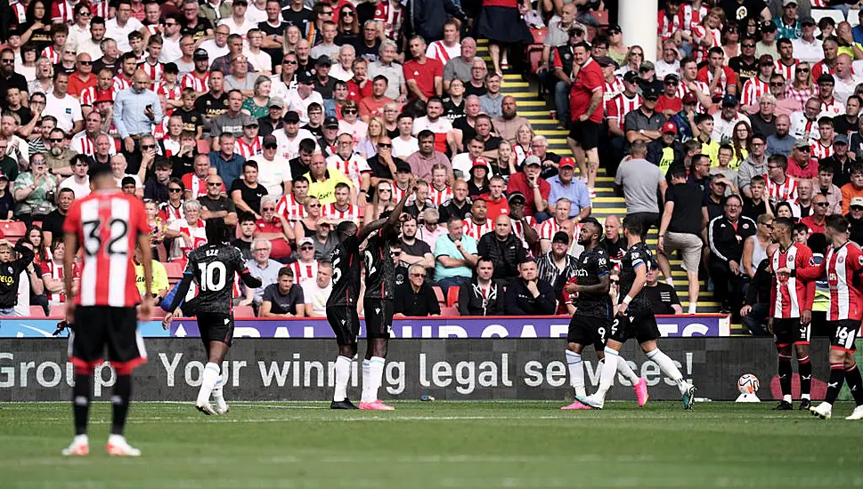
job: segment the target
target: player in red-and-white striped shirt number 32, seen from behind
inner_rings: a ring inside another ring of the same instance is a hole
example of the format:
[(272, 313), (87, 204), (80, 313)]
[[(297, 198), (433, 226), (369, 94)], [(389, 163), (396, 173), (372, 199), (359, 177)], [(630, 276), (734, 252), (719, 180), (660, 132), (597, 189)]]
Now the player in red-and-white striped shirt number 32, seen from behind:
[[(132, 370), (147, 361), (135, 317), (150, 317), (152, 297), (138, 293), (132, 253), (135, 244), (141, 246), (144, 288), (150, 290), (150, 225), (141, 199), (117, 188), (110, 166), (94, 167), (90, 185), (93, 193), (72, 203), (63, 223), (63, 243), (69, 250), (63, 257), (63, 285), (66, 297), (75, 298), (66, 304), (66, 321), (73, 325), (69, 361), (75, 367), (75, 438), (62, 453), (84, 456), (90, 452), (87, 416), (93, 371), (102, 363), (107, 347), (117, 381), (111, 396), (113, 422), (106, 449), (109, 455), (137, 457), (141, 451), (126, 442), (123, 430), (132, 397)], [(79, 245), (84, 250), (75, 291), (74, 259)], [(136, 311), (139, 302), (141, 308)]]

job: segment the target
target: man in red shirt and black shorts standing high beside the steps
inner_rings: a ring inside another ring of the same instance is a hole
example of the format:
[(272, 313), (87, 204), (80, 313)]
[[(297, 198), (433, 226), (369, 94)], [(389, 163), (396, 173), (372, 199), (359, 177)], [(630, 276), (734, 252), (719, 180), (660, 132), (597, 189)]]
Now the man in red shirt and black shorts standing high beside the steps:
[[(602, 95), (605, 76), (602, 68), (590, 58), (590, 45), (579, 43), (573, 46), (573, 88), (569, 93), (569, 112), (572, 125), (566, 144), (578, 160), (582, 176), (587, 175), (590, 195), (595, 195), (595, 181), (599, 168), (597, 151), (599, 124), (602, 124)], [(585, 161), (587, 156), (587, 161)]]

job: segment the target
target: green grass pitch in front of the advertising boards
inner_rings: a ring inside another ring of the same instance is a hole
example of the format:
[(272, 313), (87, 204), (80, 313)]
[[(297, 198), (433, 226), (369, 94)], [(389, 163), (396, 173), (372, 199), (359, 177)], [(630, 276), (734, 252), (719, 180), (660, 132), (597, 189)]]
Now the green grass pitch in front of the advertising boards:
[[(140, 459), (104, 452), (110, 405), (91, 410), (90, 456), (64, 459), (67, 403), (0, 404), (2, 489), (381, 489), (863, 486), (863, 423), (760, 405), (396, 402), (395, 412), (323, 403), (137, 403), (126, 437)], [(796, 407), (796, 405), (795, 405)]]

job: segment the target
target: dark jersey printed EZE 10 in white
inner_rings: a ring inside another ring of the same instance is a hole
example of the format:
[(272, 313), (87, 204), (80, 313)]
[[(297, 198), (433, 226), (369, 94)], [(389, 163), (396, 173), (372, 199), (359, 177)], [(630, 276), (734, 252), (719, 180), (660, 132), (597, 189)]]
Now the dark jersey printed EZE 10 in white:
[(189, 253), (185, 274), (198, 285), (195, 299), (199, 312), (230, 314), (234, 277), (247, 274), (246, 261), (239, 249), (227, 244), (204, 244)]

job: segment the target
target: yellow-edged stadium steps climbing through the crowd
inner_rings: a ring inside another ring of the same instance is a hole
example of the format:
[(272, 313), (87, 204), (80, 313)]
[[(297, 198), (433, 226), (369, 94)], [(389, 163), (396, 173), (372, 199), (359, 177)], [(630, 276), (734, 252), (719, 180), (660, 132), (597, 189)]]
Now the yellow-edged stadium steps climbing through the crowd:
[[(486, 39), (477, 41), (476, 53), (491, 66), (491, 59), (488, 55), (488, 41)], [(534, 81), (525, 82), (523, 76), (508, 73), (503, 76), (501, 92), (504, 95), (511, 95), (516, 98), (518, 114), (530, 120), (534, 132), (545, 136), (549, 140), (549, 151), (561, 156), (572, 156), (572, 152), (566, 146), (566, 135), (568, 132), (559, 129), (557, 121), (551, 118), (550, 108), (552, 108), (552, 105), (545, 100), (539, 100)], [(597, 196), (592, 199), (592, 215), (601, 222), (604, 222), (612, 214), (617, 216), (626, 214), (626, 204), (623, 202), (623, 196), (618, 196), (615, 193), (614, 180), (614, 176), (607, 175), (604, 168), (599, 169), (596, 186)], [(652, 229), (647, 235), (647, 244), (654, 252), (656, 235), (656, 229)], [(671, 264), (674, 288), (678, 293), (683, 310), (686, 311), (689, 304), (686, 271), (682, 269), (680, 260), (672, 260)], [(718, 313), (721, 304), (713, 301), (713, 294), (707, 290), (704, 280), (700, 281), (700, 285), (701, 293), (699, 293), (698, 298), (698, 312)], [(746, 333), (742, 325), (732, 325), (731, 332)]]

